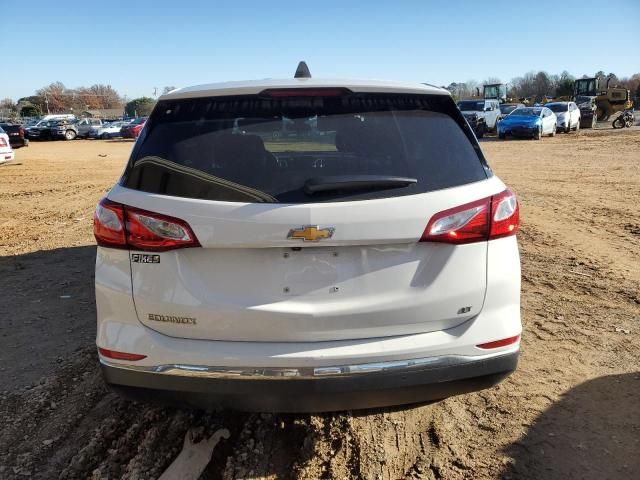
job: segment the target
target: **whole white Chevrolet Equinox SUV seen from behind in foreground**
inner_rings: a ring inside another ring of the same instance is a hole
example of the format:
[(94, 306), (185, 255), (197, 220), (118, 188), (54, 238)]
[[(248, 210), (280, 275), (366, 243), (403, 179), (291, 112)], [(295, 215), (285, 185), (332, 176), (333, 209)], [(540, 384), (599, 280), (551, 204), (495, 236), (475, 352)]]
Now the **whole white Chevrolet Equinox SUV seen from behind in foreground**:
[(444, 89), (175, 90), (95, 213), (105, 379), (137, 399), (289, 412), (489, 387), (518, 359), (518, 226)]

